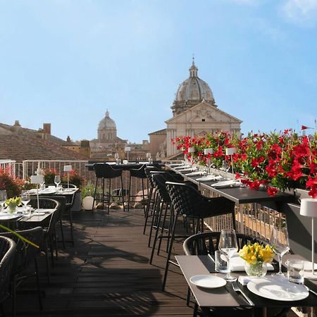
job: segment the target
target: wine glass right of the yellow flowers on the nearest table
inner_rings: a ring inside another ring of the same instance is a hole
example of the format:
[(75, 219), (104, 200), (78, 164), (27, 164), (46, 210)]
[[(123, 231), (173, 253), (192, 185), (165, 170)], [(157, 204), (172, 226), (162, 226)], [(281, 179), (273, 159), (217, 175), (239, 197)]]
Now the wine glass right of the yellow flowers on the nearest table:
[(290, 243), (288, 242), (287, 228), (274, 227), (271, 233), (271, 245), (273, 251), (278, 255), (278, 273), (275, 275), (284, 276), (282, 273), (282, 256), (290, 251)]

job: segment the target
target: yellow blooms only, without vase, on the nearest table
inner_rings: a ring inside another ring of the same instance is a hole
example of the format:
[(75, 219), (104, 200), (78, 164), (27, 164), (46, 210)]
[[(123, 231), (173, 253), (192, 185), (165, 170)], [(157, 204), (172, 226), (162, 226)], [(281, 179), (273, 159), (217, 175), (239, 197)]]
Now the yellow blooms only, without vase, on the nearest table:
[(246, 244), (239, 251), (239, 255), (242, 259), (249, 264), (256, 264), (258, 262), (271, 263), (273, 260), (274, 252), (268, 244), (263, 246), (255, 242), (254, 244)]

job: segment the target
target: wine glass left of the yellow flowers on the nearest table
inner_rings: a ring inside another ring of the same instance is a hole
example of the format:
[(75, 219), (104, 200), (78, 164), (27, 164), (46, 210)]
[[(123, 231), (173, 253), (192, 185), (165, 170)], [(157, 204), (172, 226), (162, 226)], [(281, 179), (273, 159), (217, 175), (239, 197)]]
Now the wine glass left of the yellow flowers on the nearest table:
[(237, 235), (233, 229), (221, 230), (218, 249), (222, 254), (228, 259), (228, 273), (225, 275), (224, 279), (229, 282), (234, 282), (237, 278), (230, 275), (230, 258), (232, 255), (237, 253)]

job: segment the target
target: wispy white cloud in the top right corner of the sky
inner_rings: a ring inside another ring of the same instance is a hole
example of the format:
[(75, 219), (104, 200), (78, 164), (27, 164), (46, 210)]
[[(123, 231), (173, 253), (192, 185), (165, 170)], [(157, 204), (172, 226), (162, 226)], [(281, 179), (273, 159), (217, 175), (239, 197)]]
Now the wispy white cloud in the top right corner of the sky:
[(287, 0), (281, 7), (291, 23), (314, 26), (317, 22), (317, 0)]

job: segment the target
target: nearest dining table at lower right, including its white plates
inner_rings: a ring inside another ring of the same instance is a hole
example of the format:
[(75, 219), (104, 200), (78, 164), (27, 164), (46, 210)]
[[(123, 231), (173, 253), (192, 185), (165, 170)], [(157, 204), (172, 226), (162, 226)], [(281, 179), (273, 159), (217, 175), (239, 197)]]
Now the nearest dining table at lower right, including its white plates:
[[(285, 256), (285, 261), (290, 258)], [(189, 285), (189, 288), (200, 307), (206, 315), (211, 308), (252, 307), (255, 316), (267, 316), (268, 307), (315, 307), (317, 306), (317, 283), (306, 280), (304, 285), (288, 282), (287, 278), (275, 278), (268, 273), (264, 278), (252, 279), (247, 285), (234, 282), (241, 292), (236, 292), (232, 282), (223, 280), (223, 274), (215, 271), (213, 256), (175, 256), (180, 270)], [(245, 277), (245, 272), (232, 272), (233, 276)], [(201, 284), (201, 276), (205, 284)], [(197, 277), (199, 277), (197, 279)], [(220, 282), (223, 280), (223, 282)], [(199, 281), (199, 282), (197, 282)], [(208, 281), (206, 283), (206, 281)], [(251, 284), (250, 284), (251, 283)], [(287, 288), (289, 287), (289, 288)]]

